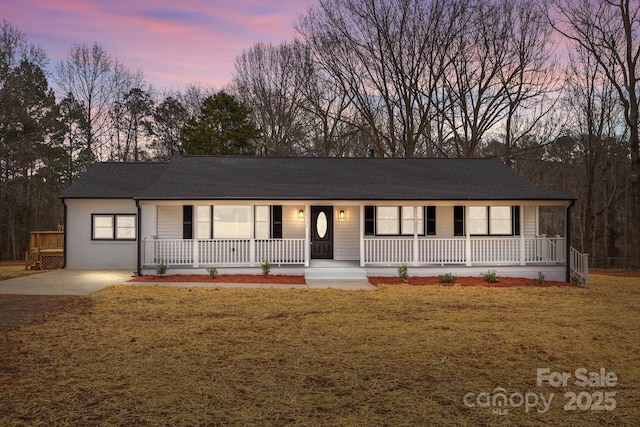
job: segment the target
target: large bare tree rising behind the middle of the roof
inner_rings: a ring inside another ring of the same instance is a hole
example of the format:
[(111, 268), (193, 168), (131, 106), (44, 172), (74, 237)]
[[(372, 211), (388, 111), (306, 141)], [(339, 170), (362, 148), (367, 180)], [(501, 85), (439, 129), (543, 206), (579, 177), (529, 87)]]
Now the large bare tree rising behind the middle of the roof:
[(444, 71), (458, 3), (320, 0), (296, 28), (351, 101), (379, 155), (423, 151), (432, 115), (430, 83)]

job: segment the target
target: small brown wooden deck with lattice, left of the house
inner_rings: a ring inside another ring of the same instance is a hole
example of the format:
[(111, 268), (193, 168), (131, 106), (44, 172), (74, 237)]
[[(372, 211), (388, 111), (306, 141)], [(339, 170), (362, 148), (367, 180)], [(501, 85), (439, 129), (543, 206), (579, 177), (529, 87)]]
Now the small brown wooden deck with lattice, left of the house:
[(64, 264), (64, 230), (32, 231), (25, 270), (55, 270)]

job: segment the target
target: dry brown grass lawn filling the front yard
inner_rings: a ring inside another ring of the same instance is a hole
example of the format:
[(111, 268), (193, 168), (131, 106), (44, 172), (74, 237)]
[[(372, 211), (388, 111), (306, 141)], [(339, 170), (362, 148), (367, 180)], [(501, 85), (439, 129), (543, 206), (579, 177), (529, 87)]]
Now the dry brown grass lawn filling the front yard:
[[(110, 287), (0, 334), (0, 425), (637, 425), (640, 283), (378, 291)], [(536, 385), (605, 368), (609, 388)], [(468, 392), (554, 393), (551, 408)], [(566, 392), (615, 392), (565, 411)], [(503, 407), (503, 409), (505, 409)]]

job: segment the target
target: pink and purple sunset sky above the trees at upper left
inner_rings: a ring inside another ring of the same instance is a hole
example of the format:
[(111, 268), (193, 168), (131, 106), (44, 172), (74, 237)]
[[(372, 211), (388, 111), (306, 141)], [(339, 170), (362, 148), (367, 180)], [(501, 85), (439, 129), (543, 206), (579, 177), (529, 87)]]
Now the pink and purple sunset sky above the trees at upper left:
[(40, 45), (51, 64), (75, 44), (101, 44), (158, 89), (221, 89), (234, 58), (254, 43), (295, 37), (317, 0), (1, 0), (0, 20)]

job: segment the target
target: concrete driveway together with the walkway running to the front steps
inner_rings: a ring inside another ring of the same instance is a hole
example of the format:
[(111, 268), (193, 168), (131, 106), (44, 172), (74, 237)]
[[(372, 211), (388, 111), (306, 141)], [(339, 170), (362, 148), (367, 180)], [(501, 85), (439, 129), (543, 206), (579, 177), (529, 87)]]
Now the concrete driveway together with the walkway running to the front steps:
[(202, 283), (202, 282), (128, 282), (133, 272), (125, 270), (54, 270), (9, 280), (0, 280), (0, 294), (13, 295), (89, 295), (109, 285), (224, 287), (224, 288), (277, 288), (277, 289), (343, 289), (373, 290), (368, 282), (317, 282), (306, 285), (262, 283)]

